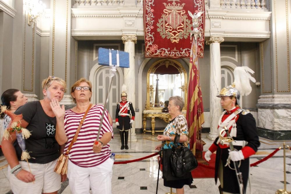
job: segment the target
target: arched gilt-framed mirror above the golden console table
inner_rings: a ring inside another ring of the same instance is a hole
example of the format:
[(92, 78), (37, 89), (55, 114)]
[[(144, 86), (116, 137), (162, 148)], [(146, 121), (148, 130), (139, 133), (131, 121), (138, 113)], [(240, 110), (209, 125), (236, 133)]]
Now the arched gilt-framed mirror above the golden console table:
[(172, 59), (158, 60), (147, 73), (147, 101), (145, 110), (160, 110), (171, 96), (184, 98), (187, 108), (187, 73), (184, 67)]

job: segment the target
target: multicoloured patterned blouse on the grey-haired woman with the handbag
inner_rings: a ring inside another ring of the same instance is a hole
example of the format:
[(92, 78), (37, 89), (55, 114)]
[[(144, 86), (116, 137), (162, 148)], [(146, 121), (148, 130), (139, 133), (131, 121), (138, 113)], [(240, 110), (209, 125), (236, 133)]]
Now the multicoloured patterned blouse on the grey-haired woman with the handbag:
[[(188, 137), (188, 127), (187, 127), (187, 121), (186, 118), (183, 115), (178, 115), (173, 120), (169, 122), (169, 124), (166, 126), (164, 130), (165, 136), (175, 136), (175, 134), (184, 135)], [(173, 139), (173, 138), (172, 138)], [(180, 147), (181, 143), (178, 143), (178, 148)], [(162, 149), (169, 149), (172, 148), (174, 145), (173, 141), (162, 141)], [(189, 139), (184, 142), (184, 146), (189, 146)]]

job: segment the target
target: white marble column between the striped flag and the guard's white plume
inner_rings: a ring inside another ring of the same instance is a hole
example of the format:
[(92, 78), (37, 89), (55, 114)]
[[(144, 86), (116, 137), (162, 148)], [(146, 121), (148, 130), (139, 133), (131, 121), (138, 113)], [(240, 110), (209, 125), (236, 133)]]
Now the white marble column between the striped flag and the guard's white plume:
[(216, 97), (221, 90), (220, 43), (222, 37), (211, 36), (206, 44), (210, 45), (210, 133), (207, 138), (215, 140), (217, 125), (221, 115), (220, 98)]

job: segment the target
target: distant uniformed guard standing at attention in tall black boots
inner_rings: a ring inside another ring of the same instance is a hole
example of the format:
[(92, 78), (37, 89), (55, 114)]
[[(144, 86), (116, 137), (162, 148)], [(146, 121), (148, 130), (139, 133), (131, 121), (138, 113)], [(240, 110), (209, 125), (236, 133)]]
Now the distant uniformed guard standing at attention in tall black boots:
[[(131, 118), (130, 118), (131, 113)], [(132, 102), (127, 101), (127, 93), (121, 93), (121, 102), (117, 103), (115, 122), (116, 127), (119, 129), (121, 147), (120, 149), (128, 149), (128, 131), (131, 128), (131, 124), (134, 122), (134, 108)]]

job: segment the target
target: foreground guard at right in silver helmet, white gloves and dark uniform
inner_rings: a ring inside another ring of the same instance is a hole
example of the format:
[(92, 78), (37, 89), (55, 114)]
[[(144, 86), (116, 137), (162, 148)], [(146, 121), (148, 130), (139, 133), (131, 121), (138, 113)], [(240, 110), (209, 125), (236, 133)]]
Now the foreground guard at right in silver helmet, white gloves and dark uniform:
[[(217, 137), (205, 153), (205, 159), (210, 161), (211, 154), (216, 151), (214, 179), (217, 183), (217, 178), (219, 178), (221, 184), (219, 191), (223, 194), (241, 192), (233, 161), (240, 163), (239, 171), (242, 173), (243, 188), (246, 191), (250, 168), (249, 157), (255, 154), (260, 146), (255, 118), (248, 110), (239, 107), (242, 91), (235, 88), (233, 83), (233, 85), (223, 88), (217, 95), (221, 98), (220, 104), (224, 109), (219, 118), (218, 133), (224, 127), (228, 129), (229, 135), (234, 140), (232, 143), (235, 151), (230, 151), (229, 143), (225, 143)], [(251, 90), (247, 93), (250, 92)], [(246, 95), (248, 95), (247, 93)], [(221, 136), (226, 136), (225, 131), (221, 133)]]

